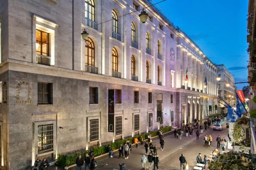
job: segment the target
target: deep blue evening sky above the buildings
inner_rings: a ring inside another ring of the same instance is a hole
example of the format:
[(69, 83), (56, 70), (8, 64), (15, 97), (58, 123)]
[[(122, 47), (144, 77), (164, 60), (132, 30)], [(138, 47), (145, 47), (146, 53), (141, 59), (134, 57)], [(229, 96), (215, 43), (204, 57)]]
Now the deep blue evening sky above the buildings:
[[(235, 82), (247, 81), (248, 0), (167, 0), (156, 7), (212, 62), (224, 64)], [(246, 85), (238, 84), (237, 89)]]

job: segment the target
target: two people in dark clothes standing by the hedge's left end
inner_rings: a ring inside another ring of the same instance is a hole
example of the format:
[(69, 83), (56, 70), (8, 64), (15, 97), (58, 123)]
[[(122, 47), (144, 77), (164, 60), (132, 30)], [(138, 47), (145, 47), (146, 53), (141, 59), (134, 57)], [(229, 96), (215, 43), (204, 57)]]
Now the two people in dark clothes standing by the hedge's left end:
[(94, 159), (93, 152), (90, 152), (89, 154), (86, 153), (86, 157), (82, 159), (82, 155), (79, 154), (79, 156), (76, 158), (76, 166), (77, 170), (82, 170), (82, 165), (84, 163), (85, 170), (88, 167), (90, 170), (93, 170), (97, 167), (97, 162)]

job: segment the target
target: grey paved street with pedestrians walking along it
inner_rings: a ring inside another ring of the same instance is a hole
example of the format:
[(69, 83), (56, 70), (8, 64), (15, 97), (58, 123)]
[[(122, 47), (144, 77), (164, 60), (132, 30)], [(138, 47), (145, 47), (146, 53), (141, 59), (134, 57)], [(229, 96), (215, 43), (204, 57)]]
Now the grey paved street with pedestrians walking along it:
[[(180, 169), (179, 156), (181, 153), (185, 156), (189, 169), (193, 169), (196, 164), (196, 157), (198, 153), (202, 153), (202, 159), (204, 155), (209, 155), (209, 153), (217, 146), (216, 138), (218, 135), (228, 139), (226, 133), (226, 124), (222, 124), (223, 131), (213, 131), (212, 128), (200, 135), (199, 140), (196, 140), (196, 134), (193, 133), (192, 137), (184, 137), (182, 139), (174, 138), (174, 135), (169, 135), (165, 137), (165, 149), (164, 151), (159, 150), (158, 155), (160, 158), (159, 168), (160, 169)], [(214, 141), (212, 141), (212, 147), (204, 147), (204, 135), (212, 135)], [(153, 141), (160, 147), (159, 139)], [(114, 158), (104, 157), (97, 160), (98, 167), (96, 169), (119, 169), (119, 163), (126, 164), (127, 169), (141, 169), (140, 159), (144, 153), (144, 146), (140, 146), (139, 149), (133, 148), (129, 159), (119, 159), (118, 153), (115, 153)], [(59, 168), (56, 168), (59, 169)], [(70, 168), (71, 170), (76, 169), (76, 167)]]

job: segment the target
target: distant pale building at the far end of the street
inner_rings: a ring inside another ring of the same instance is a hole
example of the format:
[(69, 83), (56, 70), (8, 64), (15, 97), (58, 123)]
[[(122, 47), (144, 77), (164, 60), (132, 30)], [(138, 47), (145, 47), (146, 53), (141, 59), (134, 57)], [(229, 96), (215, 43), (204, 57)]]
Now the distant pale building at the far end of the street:
[[(225, 65), (217, 65), (218, 68), (218, 95), (224, 99), (231, 107), (236, 107), (236, 86), (234, 85), (234, 77), (227, 70)], [(227, 113), (225, 103), (219, 100), (219, 112)]]

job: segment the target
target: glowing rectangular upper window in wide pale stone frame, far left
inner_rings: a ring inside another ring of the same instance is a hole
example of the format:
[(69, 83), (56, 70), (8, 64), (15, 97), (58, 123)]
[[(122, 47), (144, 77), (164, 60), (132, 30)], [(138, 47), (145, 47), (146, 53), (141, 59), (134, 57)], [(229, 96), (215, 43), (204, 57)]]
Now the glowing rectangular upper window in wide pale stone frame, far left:
[(50, 57), (49, 33), (36, 30), (36, 54)]

